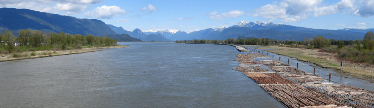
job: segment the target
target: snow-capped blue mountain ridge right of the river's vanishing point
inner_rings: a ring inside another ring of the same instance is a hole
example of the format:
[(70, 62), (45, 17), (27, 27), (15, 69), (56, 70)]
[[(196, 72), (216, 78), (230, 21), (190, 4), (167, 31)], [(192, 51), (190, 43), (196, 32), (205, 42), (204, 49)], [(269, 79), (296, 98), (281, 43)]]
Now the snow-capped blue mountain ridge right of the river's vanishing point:
[(254, 37), (254, 38), (271, 38), (279, 40), (303, 40), (306, 37), (313, 38), (315, 36), (324, 36), (327, 39), (362, 39), (367, 31), (373, 29), (360, 30), (325, 30), (306, 27), (289, 26), (285, 24), (263, 23), (260, 21), (248, 22), (240, 21), (236, 25), (230, 27), (208, 28), (199, 31), (180, 31), (170, 32), (171, 30), (160, 30), (145, 32), (145, 34), (162, 34), (170, 40), (193, 40), (193, 39), (222, 39), (237, 38), (238, 36)]

